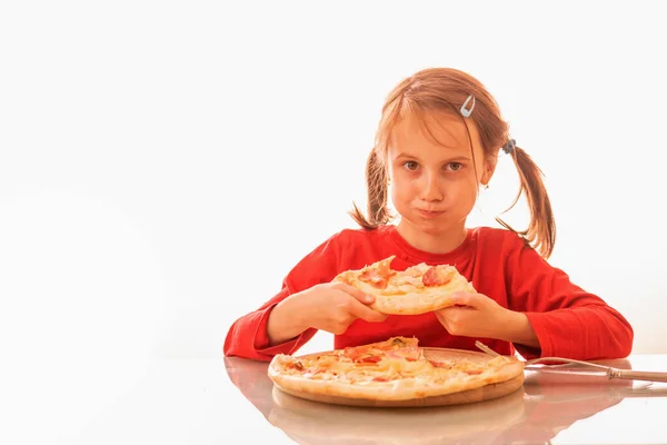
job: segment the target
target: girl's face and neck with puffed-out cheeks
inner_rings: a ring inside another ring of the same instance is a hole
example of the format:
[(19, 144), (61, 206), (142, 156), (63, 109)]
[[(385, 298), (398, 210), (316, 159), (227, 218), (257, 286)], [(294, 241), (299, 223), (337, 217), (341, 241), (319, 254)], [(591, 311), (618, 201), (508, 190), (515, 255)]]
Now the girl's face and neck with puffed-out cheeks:
[[(415, 236), (454, 235), (465, 230), (479, 182), (488, 184), (495, 162), (485, 160), (471, 120), (429, 112), (425, 121), (401, 120), (391, 132), (387, 152), (391, 200), (401, 216), (399, 229)], [(401, 227), (402, 226), (402, 227)]]

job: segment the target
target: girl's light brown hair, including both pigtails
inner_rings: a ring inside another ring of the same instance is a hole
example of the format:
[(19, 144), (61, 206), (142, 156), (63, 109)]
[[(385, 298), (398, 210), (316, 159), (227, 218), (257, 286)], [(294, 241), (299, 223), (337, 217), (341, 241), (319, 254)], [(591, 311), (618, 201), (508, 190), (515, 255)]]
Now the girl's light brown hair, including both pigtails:
[[(459, 108), (470, 95), (475, 97), (475, 109), (467, 119), (471, 119), (478, 128), (485, 157), (497, 156), (500, 147), (509, 140), (509, 126), (502, 119), (494, 97), (470, 75), (452, 68), (429, 68), (402, 80), (394, 88), (382, 107), (375, 147), (366, 162), (368, 216), (364, 216), (356, 204), (349, 212), (357, 224), (370, 230), (392, 219), (387, 208), (386, 161), (388, 141), (395, 126), (401, 119), (419, 118), (427, 111), (448, 111), (461, 116)], [(469, 108), (468, 105), (467, 109)], [(468, 137), (470, 138), (469, 135)], [(510, 210), (521, 194), (525, 194), (530, 209), (530, 221), (526, 230), (515, 230), (500, 218), (496, 220), (522, 237), (526, 244), (534, 247), (544, 258), (548, 258), (556, 244), (556, 222), (542, 180), (544, 175), (530, 156), (518, 146), (515, 146), (510, 156), (519, 174), (520, 188), (505, 211)]]

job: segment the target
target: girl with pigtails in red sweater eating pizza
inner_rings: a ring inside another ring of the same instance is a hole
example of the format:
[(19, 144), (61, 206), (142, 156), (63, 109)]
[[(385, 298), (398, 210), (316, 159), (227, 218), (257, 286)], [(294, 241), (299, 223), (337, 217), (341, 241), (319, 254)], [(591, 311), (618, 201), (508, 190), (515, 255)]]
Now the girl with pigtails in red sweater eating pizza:
[[(505, 228), (468, 229), (467, 216), (500, 149), (518, 169), (528, 228), (517, 233), (498, 220)], [(437, 68), (400, 82), (382, 108), (366, 174), (368, 212), (356, 206), (351, 212), (361, 228), (334, 235), (299, 261), (273, 298), (233, 323), (225, 355), (270, 360), (293, 354), (317, 329), (335, 334), (335, 348), (400, 335), (417, 337), (420, 346), (459, 349), (475, 349), (480, 339), (527, 359), (629, 355), (629, 323), (547, 263), (556, 229), (540, 170), (509, 139), (495, 99), (478, 80)], [(434, 313), (386, 316), (368, 306), (372, 297), (330, 283), (391, 255), (399, 270), (451, 264), (479, 294), (456, 295), (457, 306)]]

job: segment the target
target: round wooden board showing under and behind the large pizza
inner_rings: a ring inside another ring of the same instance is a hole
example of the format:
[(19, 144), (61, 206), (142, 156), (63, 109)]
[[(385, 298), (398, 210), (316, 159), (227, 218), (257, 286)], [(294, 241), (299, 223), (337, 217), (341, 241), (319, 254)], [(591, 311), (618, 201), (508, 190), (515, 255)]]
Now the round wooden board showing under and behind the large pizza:
[[(427, 358), (437, 359), (468, 359), (471, 362), (487, 362), (490, 360), (491, 356), (485, 353), (478, 353), (475, 350), (464, 349), (449, 349), (449, 348), (424, 348), (424, 354)], [(447, 406), (447, 405), (461, 405), (475, 402), (490, 400), (494, 398), (502, 397), (511, 394), (524, 386), (524, 373), (518, 376), (500, 383), (494, 383), (481, 386), (475, 389), (462, 390), (458, 393), (445, 394), (441, 396), (431, 396), (422, 398), (412, 398), (408, 400), (374, 400), (367, 398), (352, 398), (352, 397), (340, 397), (329, 396), (323, 394), (310, 394), (306, 392), (292, 390), (283, 388), (278, 384), (275, 386), (295, 397), (305, 398), (313, 402), (321, 402), (334, 405), (346, 405), (346, 406), (370, 406), (370, 407), (426, 407), (426, 406)]]

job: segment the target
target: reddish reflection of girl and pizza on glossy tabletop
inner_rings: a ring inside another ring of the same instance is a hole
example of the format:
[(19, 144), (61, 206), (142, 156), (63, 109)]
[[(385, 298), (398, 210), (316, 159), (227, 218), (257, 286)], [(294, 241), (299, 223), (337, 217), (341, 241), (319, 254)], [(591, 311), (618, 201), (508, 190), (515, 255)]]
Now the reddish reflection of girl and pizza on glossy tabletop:
[[(667, 356), (659, 356), (663, 368)], [(599, 362), (631, 368), (631, 360)], [(667, 385), (609, 380), (593, 374), (527, 372), (518, 390), (491, 400), (430, 408), (365, 408), (329, 405), (275, 388), (267, 364), (226, 358), (229, 377), (273, 426), (299, 444), (545, 443), (576, 423), (633, 397), (659, 398)], [(646, 369), (659, 370), (659, 369)], [(631, 414), (630, 414), (631, 415)]]

